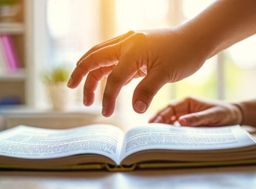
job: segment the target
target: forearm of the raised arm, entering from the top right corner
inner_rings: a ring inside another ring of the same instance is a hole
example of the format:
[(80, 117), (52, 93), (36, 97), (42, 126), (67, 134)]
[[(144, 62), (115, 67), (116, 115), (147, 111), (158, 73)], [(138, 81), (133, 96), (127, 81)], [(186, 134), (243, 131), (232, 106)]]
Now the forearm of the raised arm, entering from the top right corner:
[(256, 34), (256, 0), (219, 0), (183, 27), (210, 58)]

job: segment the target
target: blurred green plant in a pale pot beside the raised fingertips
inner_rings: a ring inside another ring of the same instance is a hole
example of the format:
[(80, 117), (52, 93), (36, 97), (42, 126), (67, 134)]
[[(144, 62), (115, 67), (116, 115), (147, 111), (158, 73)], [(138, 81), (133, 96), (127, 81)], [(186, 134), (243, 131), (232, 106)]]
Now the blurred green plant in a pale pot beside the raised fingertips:
[(43, 80), (55, 111), (67, 111), (73, 105), (73, 90), (66, 86), (70, 70), (67, 67), (59, 66), (43, 73)]

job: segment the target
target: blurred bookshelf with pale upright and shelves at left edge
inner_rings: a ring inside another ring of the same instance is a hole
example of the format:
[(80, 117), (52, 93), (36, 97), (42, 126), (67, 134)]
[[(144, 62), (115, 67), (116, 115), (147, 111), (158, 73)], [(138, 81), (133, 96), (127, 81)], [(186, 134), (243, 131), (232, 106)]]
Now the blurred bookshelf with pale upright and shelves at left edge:
[[(46, 61), (42, 58), (46, 49), (42, 38), (46, 36), (46, 24), (42, 21), (45, 12), (46, 1), (19, 0), (19, 11), (14, 19), (0, 19), (0, 35), (6, 34), (12, 38), (19, 61), (16, 71), (0, 72), (0, 102), (5, 97), (15, 96), (21, 106), (36, 106), (35, 96), (40, 93), (37, 88), (38, 65)], [(41, 56), (37, 56), (37, 53), (41, 53)]]

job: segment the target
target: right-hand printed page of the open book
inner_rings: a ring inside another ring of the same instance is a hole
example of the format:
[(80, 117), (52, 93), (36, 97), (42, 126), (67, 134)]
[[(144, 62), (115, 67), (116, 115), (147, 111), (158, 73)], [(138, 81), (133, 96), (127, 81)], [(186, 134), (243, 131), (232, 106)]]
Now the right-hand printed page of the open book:
[(120, 160), (138, 151), (151, 149), (216, 150), (255, 144), (255, 140), (239, 125), (195, 128), (151, 123), (127, 132)]

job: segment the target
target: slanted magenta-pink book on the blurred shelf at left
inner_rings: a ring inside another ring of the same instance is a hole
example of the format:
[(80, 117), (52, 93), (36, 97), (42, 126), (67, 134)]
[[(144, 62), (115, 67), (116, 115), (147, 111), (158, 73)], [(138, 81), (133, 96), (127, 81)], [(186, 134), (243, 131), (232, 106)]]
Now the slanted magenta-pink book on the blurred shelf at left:
[(1, 41), (3, 44), (3, 50), (7, 59), (7, 67), (10, 71), (16, 71), (19, 68), (18, 57), (14, 49), (12, 38), (9, 34), (2, 34)]

